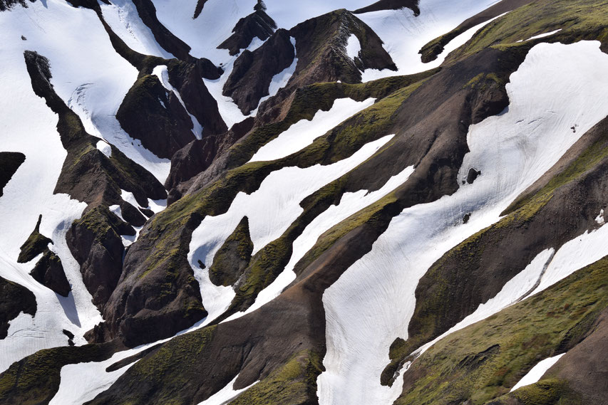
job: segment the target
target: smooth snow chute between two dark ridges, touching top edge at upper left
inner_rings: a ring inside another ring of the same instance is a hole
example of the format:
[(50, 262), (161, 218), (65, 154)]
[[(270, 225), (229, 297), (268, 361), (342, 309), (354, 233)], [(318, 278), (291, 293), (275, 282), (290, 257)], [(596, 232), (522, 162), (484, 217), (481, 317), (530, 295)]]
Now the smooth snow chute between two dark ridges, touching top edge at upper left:
[(165, 59), (175, 58), (156, 42), (150, 28), (141, 21), (133, 1), (112, 0), (111, 4), (100, 2), (99, 5), (105, 22), (133, 51)]

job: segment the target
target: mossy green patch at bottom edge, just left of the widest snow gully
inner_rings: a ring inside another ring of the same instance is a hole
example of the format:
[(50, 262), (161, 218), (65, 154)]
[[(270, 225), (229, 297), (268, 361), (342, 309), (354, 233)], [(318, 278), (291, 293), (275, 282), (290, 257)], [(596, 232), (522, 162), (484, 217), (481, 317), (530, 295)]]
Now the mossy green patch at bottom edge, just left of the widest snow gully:
[(321, 356), (318, 353), (299, 353), (269, 377), (244, 391), (230, 405), (314, 403), (316, 378), (321, 371)]

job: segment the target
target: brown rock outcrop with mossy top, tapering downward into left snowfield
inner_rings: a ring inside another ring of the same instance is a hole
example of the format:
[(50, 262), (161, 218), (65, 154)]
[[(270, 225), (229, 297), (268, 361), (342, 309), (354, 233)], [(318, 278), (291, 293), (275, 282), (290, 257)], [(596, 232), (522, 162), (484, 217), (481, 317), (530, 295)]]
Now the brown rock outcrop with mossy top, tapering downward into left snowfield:
[(66, 235), (70, 251), (81, 265), (86, 288), (100, 308), (123, 272), (125, 248), (120, 235), (135, 235), (135, 230), (105, 206), (91, 209), (74, 221)]

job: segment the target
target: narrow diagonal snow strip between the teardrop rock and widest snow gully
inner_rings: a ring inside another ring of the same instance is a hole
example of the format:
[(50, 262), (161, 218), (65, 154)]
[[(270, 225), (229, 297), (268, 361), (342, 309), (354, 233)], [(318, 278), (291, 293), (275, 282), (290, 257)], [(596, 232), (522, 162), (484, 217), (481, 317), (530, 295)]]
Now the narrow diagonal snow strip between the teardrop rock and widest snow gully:
[(306, 252), (314, 246), (319, 236), (326, 231), (329, 231), (332, 226), (355, 214), (357, 211), (364, 209), (366, 206), (369, 206), (383, 196), (386, 196), (386, 194), (396, 189), (397, 186), (406, 182), (413, 171), (413, 166), (406, 167), (401, 173), (388, 179), (381, 189), (372, 191), (371, 193), (366, 190), (359, 190), (355, 193), (345, 193), (337, 206), (331, 205), (326, 211), (311, 221), (309, 226), (306, 226), (302, 235), (294, 241), (292, 257), (289, 259), (289, 263), (287, 263), (285, 269), (272, 284), (260, 291), (255, 303), (245, 312), (237, 312), (235, 315), (228, 317), (225, 322), (242, 317), (242, 315), (246, 315), (249, 312), (253, 312), (254, 310), (257, 310), (257, 308), (262, 307), (262, 305), (277, 298), (279, 294), (296, 279), (296, 273), (294, 273), (295, 265), (304, 257)]

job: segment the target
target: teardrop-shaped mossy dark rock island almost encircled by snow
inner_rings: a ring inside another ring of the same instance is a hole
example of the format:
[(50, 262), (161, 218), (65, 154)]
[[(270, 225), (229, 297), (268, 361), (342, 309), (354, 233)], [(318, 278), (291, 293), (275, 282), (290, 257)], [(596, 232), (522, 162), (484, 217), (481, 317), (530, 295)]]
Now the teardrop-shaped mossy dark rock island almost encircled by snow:
[(234, 285), (251, 260), (253, 243), (245, 216), (213, 258), (209, 278), (215, 285)]

